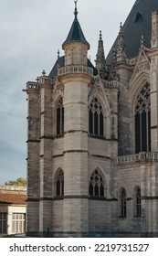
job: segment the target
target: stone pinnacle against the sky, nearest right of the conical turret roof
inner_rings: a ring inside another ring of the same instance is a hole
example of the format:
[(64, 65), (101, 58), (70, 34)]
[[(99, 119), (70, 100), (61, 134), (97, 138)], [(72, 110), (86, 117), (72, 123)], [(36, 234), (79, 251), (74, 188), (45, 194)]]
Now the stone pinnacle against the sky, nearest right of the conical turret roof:
[(101, 31), (100, 31), (98, 52), (97, 52), (97, 55), (96, 55), (96, 69), (106, 70), (106, 61), (105, 61), (104, 47), (103, 47), (103, 40), (102, 40)]

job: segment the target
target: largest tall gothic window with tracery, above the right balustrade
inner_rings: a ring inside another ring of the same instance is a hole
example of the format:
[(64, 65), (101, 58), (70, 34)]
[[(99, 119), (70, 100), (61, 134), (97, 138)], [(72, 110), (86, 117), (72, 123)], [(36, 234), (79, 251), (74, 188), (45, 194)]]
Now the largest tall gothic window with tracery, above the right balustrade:
[(151, 151), (150, 84), (146, 83), (135, 102), (135, 153)]

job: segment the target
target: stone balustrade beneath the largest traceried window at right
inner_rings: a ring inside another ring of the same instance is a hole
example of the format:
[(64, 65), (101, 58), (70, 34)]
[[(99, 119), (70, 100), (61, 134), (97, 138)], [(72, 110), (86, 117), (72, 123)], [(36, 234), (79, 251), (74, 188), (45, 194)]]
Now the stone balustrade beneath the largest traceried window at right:
[(117, 157), (117, 164), (128, 164), (140, 161), (158, 161), (158, 152), (141, 152), (135, 155), (123, 155)]

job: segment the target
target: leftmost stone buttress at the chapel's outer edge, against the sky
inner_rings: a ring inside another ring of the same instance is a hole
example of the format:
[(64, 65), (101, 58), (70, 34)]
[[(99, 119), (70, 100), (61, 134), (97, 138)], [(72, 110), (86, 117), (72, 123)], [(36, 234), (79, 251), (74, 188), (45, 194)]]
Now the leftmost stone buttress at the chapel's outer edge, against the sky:
[(26, 83), (27, 116), (27, 199), (26, 233), (38, 234), (39, 223), (39, 89), (37, 82)]

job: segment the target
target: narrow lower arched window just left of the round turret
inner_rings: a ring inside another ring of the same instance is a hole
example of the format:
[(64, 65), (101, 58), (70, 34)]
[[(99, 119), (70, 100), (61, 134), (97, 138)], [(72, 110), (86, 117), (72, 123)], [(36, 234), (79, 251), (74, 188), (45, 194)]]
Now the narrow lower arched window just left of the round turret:
[(56, 196), (64, 196), (64, 172), (59, 169), (56, 176)]

